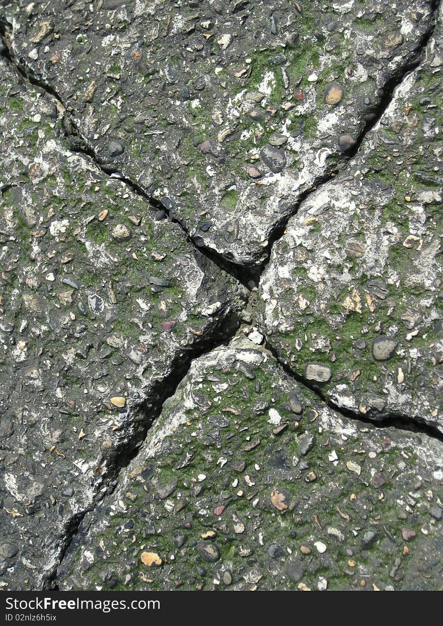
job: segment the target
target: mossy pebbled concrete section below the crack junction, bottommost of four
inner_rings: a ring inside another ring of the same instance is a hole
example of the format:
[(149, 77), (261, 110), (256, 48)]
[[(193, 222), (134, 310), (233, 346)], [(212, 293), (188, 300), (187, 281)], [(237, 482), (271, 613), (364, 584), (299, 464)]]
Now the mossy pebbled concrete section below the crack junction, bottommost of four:
[(84, 518), (60, 588), (437, 589), (442, 454), (342, 418), (267, 352), (217, 349)]

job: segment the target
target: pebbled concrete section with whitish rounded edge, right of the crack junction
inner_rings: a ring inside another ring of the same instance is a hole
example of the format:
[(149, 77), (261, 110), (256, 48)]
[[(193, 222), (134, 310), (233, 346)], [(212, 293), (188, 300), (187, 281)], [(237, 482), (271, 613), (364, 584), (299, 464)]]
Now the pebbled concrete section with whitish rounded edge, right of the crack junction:
[(291, 218), (260, 294), (270, 344), (325, 398), (443, 432), (442, 42), (439, 22), (345, 176)]

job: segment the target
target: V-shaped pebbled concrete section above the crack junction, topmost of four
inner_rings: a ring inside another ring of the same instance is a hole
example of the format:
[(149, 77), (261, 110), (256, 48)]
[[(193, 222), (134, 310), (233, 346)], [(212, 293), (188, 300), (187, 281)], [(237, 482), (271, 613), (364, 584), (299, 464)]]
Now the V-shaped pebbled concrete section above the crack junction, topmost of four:
[[(106, 167), (254, 264), (418, 58), (429, 1), (61, 0), (4, 9), (14, 56)], [(269, 155), (273, 154), (273, 158)]]

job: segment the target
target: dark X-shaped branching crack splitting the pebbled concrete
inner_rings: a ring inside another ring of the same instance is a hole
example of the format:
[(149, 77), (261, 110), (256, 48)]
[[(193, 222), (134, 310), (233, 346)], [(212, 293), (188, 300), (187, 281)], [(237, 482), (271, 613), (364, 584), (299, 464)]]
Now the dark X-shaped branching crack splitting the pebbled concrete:
[[(433, 15), (432, 15), (431, 23), (430, 23), (430, 28), (420, 42), (420, 45), (417, 51), (417, 56), (415, 57), (414, 61), (411, 61), (408, 64), (408, 66), (402, 71), (401, 74), (399, 75), (397, 74), (397, 76), (392, 77), (392, 79), (387, 83), (387, 86), (385, 86), (384, 95), (382, 96), (380, 100), (377, 110), (374, 112), (374, 116), (369, 121), (367, 121), (362, 133), (359, 136), (359, 140), (357, 141), (354, 148), (352, 148), (352, 151), (349, 151), (347, 155), (345, 155), (347, 158), (347, 165), (349, 165), (349, 163), (352, 162), (352, 159), (360, 150), (360, 146), (365, 140), (365, 136), (367, 136), (367, 133), (369, 133), (370, 130), (374, 128), (374, 126), (379, 122), (380, 118), (382, 118), (382, 115), (384, 115), (385, 110), (387, 109), (390, 102), (392, 101), (392, 97), (394, 95), (395, 89), (402, 83), (406, 74), (408, 74), (410, 71), (417, 68), (422, 62), (424, 50), (427, 46), (427, 43), (430, 37), (432, 36), (432, 33), (434, 32), (435, 12), (437, 11), (438, 6), (439, 6), (439, 0), (435, 0), (434, 3), (432, 3)], [(32, 73), (30, 73), (29, 71), (26, 71), (26, 69), (24, 69), (19, 63), (19, 61), (14, 57), (14, 54), (11, 52), (11, 49), (9, 48), (9, 45), (8, 45), (8, 32), (7, 32), (8, 28), (9, 27), (7, 24), (0, 21), (0, 37), (3, 43), (3, 50), (0, 50), (1, 56), (8, 59), (9, 62), (13, 64), (13, 66), (16, 68), (19, 74), (24, 78), (24, 80), (29, 81), (29, 83), (31, 83), (32, 85), (37, 86), (38, 88), (44, 90), (49, 96), (51, 96), (58, 102), (59, 107), (61, 107), (63, 110), (61, 126), (63, 128), (66, 139), (69, 141), (69, 138), (72, 139), (72, 135), (74, 134), (74, 136), (76, 136), (79, 140), (78, 145), (75, 146), (74, 148), (71, 148), (71, 150), (78, 152), (78, 153), (83, 153), (85, 156), (88, 156), (94, 162), (96, 167), (99, 168), (99, 170), (101, 170), (101, 172), (103, 172), (106, 176), (119, 178), (123, 183), (125, 183), (125, 185), (128, 186), (128, 188), (130, 188), (133, 191), (133, 193), (136, 193), (137, 195), (143, 197), (148, 202), (148, 205), (151, 208), (155, 210), (159, 210), (160, 208), (165, 210), (165, 213), (166, 215), (168, 215), (168, 218), (171, 220), (171, 222), (178, 223), (178, 225), (181, 227), (181, 229), (185, 233), (186, 239), (193, 245), (193, 247), (195, 248), (198, 254), (202, 255), (203, 257), (206, 257), (207, 259), (210, 259), (212, 262), (218, 265), (218, 267), (223, 272), (227, 272), (228, 274), (235, 277), (237, 280), (239, 280), (239, 282), (241, 282), (243, 285), (248, 287), (248, 289), (252, 289), (253, 286), (258, 285), (260, 277), (262, 276), (268, 263), (270, 262), (273, 245), (275, 244), (275, 242), (281, 239), (285, 231), (285, 228), (287, 227), (287, 223), (289, 222), (290, 218), (293, 217), (293, 215), (297, 214), (298, 209), (300, 208), (300, 205), (302, 205), (302, 203), (308, 198), (308, 196), (311, 193), (315, 192), (318, 189), (318, 187), (332, 180), (332, 178), (334, 178), (335, 175), (337, 175), (338, 173), (338, 170), (330, 171), (326, 173), (325, 175), (320, 177), (312, 185), (312, 187), (308, 188), (308, 190), (306, 190), (300, 195), (300, 197), (298, 198), (297, 204), (295, 205), (293, 210), (289, 212), (288, 215), (285, 215), (285, 217), (283, 217), (282, 220), (280, 220), (280, 222), (278, 222), (277, 225), (275, 225), (275, 227), (272, 229), (272, 233), (270, 237), (268, 238), (267, 255), (265, 257), (265, 260), (263, 260), (262, 264), (256, 267), (250, 267), (248, 265), (241, 265), (241, 264), (235, 264), (233, 262), (230, 262), (229, 260), (225, 259), (225, 257), (217, 253), (215, 250), (212, 250), (205, 246), (197, 245), (193, 237), (191, 237), (185, 224), (181, 222), (180, 220), (178, 220), (177, 218), (173, 217), (173, 213), (171, 212), (171, 209), (170, 208), (168, 209), (167, 207), (165, 207), (165, 205), (163, 205), (159, 200), (156, 200), (155, 198), (150, 197), (145, 192), (145, 190), (143, 190), (143, 188), (140, 187), (140, 185), (131, 181), (129, 178), (126, 178), (120, 172), (117, 172), (117, 170), (104, 167), (101, 164), (98, 157), (94, 153), (93, 148), (91, 148), (91, 146), (88, 145), (88, 141), (86, 141), (86, 139), (83, 138), (78, 128), (76, 128), (76, 126), (74, 125), (74, 122), (71, 116), (68, 117), (69, 114), (66, 109), (66, 106), (64, 106), (64, 103), (61, 100), (58, 93), (50, 85), (44, 83), (44, 81), (38, 80), (37, 78), (35, 78), (35, 76), (33, 76)], [(69, 123), (72, 126), (72, 130), (74, 131), (73, 133), (68, 132), (68, 129), (63, 123), (64, 120), (69, 120)], [(347, 168), (347, 165), (345, 165), (344, 168), (340, 168), (340, 173), (342, 173)], [(216, 334), (217, 331), (221, 331), (220, 326), (223, 326), (223, 325), (229, 326), (229, 319), (228, 320), (224, 319), (218, 327), (215, 327), (213, 329), (213, 332), (215, 332)], [(230, 329), (227, 335), (223, 337), (222, 339), (220, 339), (220, 334), (218, 335), (218, 339), (214, 339), (213, 337), (210, 337), (209, 341), (208, 341), (208, 338), (205, 337), (205, 346), (197, 345), (195, 348), (191, 349), (188, 352), (188, 354), (186, 354), (184, 361), (180, 357), (177, 357), (175, 359), (175, 362), (173, 362), (171, 366), (170, 374), (166, 376), (165, 379), (163, 379), (162, 381), (159, 381), (158, 386), (157, 386), (156, 397), (154, 401), (151, 403), (150, 408), (148, 409), (146, 407), (146, 404), (145, 405), (141, 404), (138, 407), (138, 409), (137, 408), (134, 409), (134, 410), (139, 410), (144, 414), (141, 427), (136, 431), (135, 435), (130, 438), (130, 441), (128, 441), (128, 444), (126, 445), (126, 447), (121, 449), (118, 452), (118, 457), (116, 461), (114, 461), (113, 464), (111, 465), (111, 468), (108, 471), (108, 475), (104, 477), (104, 481), (103, 483), (101, 483), (101, 485), (103, 486), (101, 486), (100, 491), (94, 498), (93, 503), (90, 506), (88, 506), (86, 510), (82, 511), (81, 513), (77, 513), (71, 519), (68, 527), (66, 528), (66, 534), (65, 534), (63, 545), (60, 546), (58, 565), (56, 565), (56, 567), (54, 568), (51, 574), (45, 577), (43, 588), (58, 589), (58, 585), (56, 584), (56, 578), (58, 575), (59, 565), (63, 561), (64, 555), (66, 554), (66, 551), (69, 549), (69, 546), (71, 545), (71, 541), (73, 540), (74, 536), (76, 536), (76, 534), (78, 533), (79, 526), (81, 525), (81, 522), (83, 521), (84, 516), (86, 516), (88, 512), (91, 512), (96, 508), (98, 503), (101, 500), (103, 500), (106, 493), (110, 494), (113, 492), (113, 490), (115, 489), (118, 483), (117, 479), (118, 479), (119, 473), (123, 471), (125, 468), (127, 468), (128, 465), (131, 463), (132, 459), (135, 458), (135, 456), (138, 454), (140, 439), (142, 442), (144, 439), (146, 439), (147, 433), (149, 429), (151, 428), (152, 424), (154, 423), (156, 418), (160, 416), (161, 411), (163, 409), (163, 405), (165, 404), (166, 400), (176, 393), (176, 389), (180, 385), (181, 381), (183, 381), (186, 374), (188, 374), (193, 359), (196, 359), (198, 357), (204, 356), (205, 354), (208, 354), (209, 352), (213, 351), (213, 349), (215, 349), (216, 347), (227, 345), (228, 342), (234, 336), (234, 334), (235, 334), (235, 329)], [(411, 419), (408, 416), (395, 415), (395, 414), (378, 414), (377, 420), (374, 420), (370, 418), (370, 414), (366, 414), (365, 416), (359, 416), (353, 413), (352, 411), (349, 411), (344, 408), (340, 408), (339, 406), (335, 405), (332, 401), (327, 401), (323, 397), (320, 387), (316, 386), (315, 384), (312, 384), (310, 381), (307, 381), (307, 379), (300, 376), (300, 374), (297, 374), (297, 372), (293, 371), (288, 366), (287, 362), (282, 361), (280, 356), (277, 354), (277, 351), (275, 350), (275, 348), (268, 341), (266, 334), (264, 334), (264, 336), (265, 336), (265, 345), (268, 351), (270, 351), (270, 353), (275, 357), (277, 362), (280, 363), (280, 366), (282, 366), (283, 371), (285, 371), (285, 373), (288, 376), (292, 377), (292, 379), (297, 381), (298, 384), (302, 384), (303, 386), (313, 391), (313, 393), (315, 393), (323, 403), (325, 403), (329, 408), (333, 409), (334, 411), (344, 416), (345, 418), (349, 418), (354, 421), (360, 421), (361, 423), (370, 425), (372, 428), (385, 428), (387, 426), (395, 426), (395, 428), (398, 428), (398, 429), (402, 429), (402, 430), (414, 432), (414, 433), (427, 434), (428, 436), (434, 439), (443, 441), (443, 434), (440, 433), (440, 431), (437, 428), (424, 424), (421, 421), (414, 421), (414, 419)], [(420, 419), (422, 418), (417, 418), (417, 420), (420, 420)]]

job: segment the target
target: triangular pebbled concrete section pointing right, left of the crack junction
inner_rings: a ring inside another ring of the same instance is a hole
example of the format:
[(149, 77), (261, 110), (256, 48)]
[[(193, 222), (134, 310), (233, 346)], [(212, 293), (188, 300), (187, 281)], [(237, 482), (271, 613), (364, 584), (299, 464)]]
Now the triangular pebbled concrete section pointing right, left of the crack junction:
[(20, 538), (9, 575), (35, 585), (168, 375), (220, 338), (244, 290), (71, 153), (54, 104), (0, 71), (0, 516), (2, 538)]

